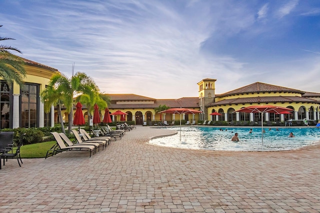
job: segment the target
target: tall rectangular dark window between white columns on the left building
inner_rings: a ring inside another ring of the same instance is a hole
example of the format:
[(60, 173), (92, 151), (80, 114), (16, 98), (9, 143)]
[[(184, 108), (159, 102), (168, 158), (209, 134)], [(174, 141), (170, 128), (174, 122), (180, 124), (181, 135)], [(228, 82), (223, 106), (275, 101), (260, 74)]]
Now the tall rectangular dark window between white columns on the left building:
[(30, 128), (38, 126), (38, 86), (23, 84), (21, 94), (21, 127)]

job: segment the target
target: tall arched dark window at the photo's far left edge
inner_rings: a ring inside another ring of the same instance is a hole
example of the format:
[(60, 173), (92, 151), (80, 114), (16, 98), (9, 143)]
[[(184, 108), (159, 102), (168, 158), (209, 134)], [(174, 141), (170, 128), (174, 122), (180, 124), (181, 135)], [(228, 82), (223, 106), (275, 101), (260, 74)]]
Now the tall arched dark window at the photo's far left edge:
[(0, 82), (0, 129), (10, 128), (10, 89), (5, 82)]

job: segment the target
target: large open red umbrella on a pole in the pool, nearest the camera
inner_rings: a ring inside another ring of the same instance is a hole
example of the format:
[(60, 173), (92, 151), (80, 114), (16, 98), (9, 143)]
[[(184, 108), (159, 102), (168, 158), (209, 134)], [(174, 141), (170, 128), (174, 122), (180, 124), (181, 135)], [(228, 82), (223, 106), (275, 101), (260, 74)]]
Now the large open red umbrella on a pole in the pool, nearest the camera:
[(256, 105), (256, 106), (248, 106), (242, 109), (236, 110), (234, 112), (246, 112), (246, 113), (261, 113), (261, 143), (263, 145), (263, 113), (275, 113), (280, 114), (281, 112), (292, 111), (292, 109), (285, 107), (278, 107), (272, 105)]

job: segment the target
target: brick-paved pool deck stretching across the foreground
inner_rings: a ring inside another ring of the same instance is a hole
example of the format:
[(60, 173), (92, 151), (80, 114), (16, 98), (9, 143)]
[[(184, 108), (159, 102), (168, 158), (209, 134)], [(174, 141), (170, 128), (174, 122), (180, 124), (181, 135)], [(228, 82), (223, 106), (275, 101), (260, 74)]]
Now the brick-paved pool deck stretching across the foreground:
[(228, 152), (146, 144), (172, 132), (137, 126), (91, 158), (69, 151), (22, 159), (21, 168), (9, 159), (0, 212), (320, 212), (320, 145)]

